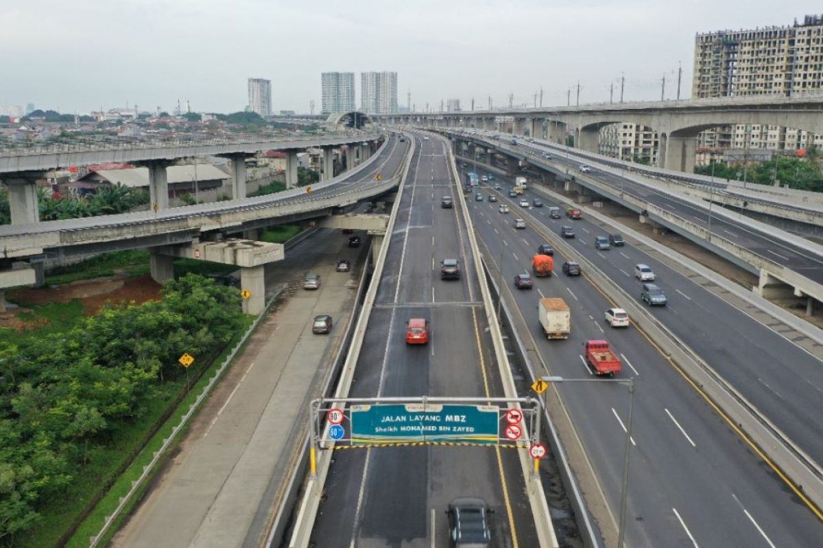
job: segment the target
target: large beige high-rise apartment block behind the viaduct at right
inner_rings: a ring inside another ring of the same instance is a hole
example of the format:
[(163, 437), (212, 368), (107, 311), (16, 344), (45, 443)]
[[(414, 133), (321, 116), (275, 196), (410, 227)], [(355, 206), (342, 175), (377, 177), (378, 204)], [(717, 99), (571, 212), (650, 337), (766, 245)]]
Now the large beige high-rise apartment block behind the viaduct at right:
[[(691, 96), (784, 97), (820, 91), (823, 86), (823, 16), (805, 16), (791, 26), (719, 30), (695, 36)], [(797, 150), (821, 136), (777, 126), (718, 127), (698, 138), (698, 161), (720, 159), (727, 150)]]

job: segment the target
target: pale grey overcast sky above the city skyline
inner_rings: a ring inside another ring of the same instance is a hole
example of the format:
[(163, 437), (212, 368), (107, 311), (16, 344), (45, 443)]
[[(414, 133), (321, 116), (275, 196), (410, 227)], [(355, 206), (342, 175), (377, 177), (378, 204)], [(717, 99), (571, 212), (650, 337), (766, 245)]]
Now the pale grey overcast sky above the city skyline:
[[(320, 108), (320, 73), (397, 71), (398, 104), (483, 108), (690, 94), (695, 33), (791, 25), (820, 2), (774, 0), (0, 0), (0, 111), (137, 104), (235, 112), (249, 76), (272, 108)], [(538, 99), (539, 100), (539, 99)]]

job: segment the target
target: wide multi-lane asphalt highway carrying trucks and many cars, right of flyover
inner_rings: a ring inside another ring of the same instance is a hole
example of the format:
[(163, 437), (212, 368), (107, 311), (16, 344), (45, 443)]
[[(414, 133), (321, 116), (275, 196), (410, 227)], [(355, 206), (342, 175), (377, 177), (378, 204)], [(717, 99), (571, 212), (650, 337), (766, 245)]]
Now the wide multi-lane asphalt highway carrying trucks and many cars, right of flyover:
[[(503, 190), (497, 192), (498, 203), (489, 203), (485, 198), (468, 203), (478, 236), (488, 249), (487, 257), (503, 266), (502, 279), (513, 293), (514, 310), (528, 325), (528, 334), (523, 336), (532, 338), (549, 374), (588, 379), (594, 377), (584, 363), (582, 345), (587, 339), (606, 338), (623, 359), (621, 377), (636, 379), (626, 536), (629, 545), (819, 546), (823, 523), (766, 463), (756, 458), (744, 440), (643, 334), (634, 327), (612, 329), (604, 322), (603, 311), (612, 303), (585, 276), (569, 278), (560, 272), (560, 264), (565, 260), (561, 251), (555, 254), (556, 275), (534, 279), (531, 291), (515, 289), (514, 275), (531, 273), (530, 261), (537, 246), (550, 243), (557, 249), (560, 225), (572, 224), (577, 237), (566, 242), (594, 260), (606, 274), (628, 288), (631, 295), (639, 293), (639, 283), (630, 275), (635, 263), (651, 265), (670, 302), (669, 307), (653, 314), (663, 316), (663, 321), (676, 331), (690, 332), (686, 342), (693, 343), (714, 366), (718, 366), (716, 361), (724, 360), (732, 369), (757, 369), (754, 378), (742, 375), (748, 385), (761, 384), (758, 376), (766, 382), (773, 381), (772, 376), (789, 376), (786, 382), (797, 385), (797, 380), (791, 378), (797, 373), (790, 375), (786, 370), (811, 375), (816, 365), (819, 375), (819, 362), (708, 293), (698, 295), (704, 290), (630, 244), (600, 251), (598, 256), (593, 249), (593, 237), (604, 233), (602, 229), (585, 219), (549, 219), (547, 207), (555, 204), (529, 209), (539, 219), (539, 225), (529, 222), (525, 230), (515, 230), (514, 219), (523, 208), (507, 197), (510, 187), (511, 183), (506, 182)], [(484, 195), (489, 191), (481, 189)], [(529, 201), (534, 197), (529, 193), (526, 196)], [(498, 212), (501, 203), (509, 204), (509, 214)], [(537, 323), (537, 300), (544, 296), (563, 297), (570, 305), (572, 334), (568, 340), (548, 341), (542, 334)], [(704, 306), (712, 308), (706, 310)], [(686, 338), (685, 334), (678, 334)], [(803, 365), (793, 364), (790, 368), (787, 361), (793, 358)], [(754, 359), (756, 364), (747, 362)], [(794, 417), (801, 425), (798, 431), (805, 431), (810, 442), (819, 438), (814, 434), (819, 428), (806, 431), (813, 425), (804, 417), (819, 408), (821, 402), (821, 394), (815, 389), (821, 386), (819, 376), (812, 380), (817, 382), (808, 386), (807, 403), (814, 400), (812, 393), (816, 392), (817, 404), (805, 409), (798, 404), (797, 410), (802, 412)], [(628, 390), (623, 385), (594, 383), (565, 383), (559, 389), (616, 519)], [(766, 390), (761, 394), (770, 398)], [(774, 401), (775, 408), (784, 405), (789, 408), (785, 415), (790, 417), (792, 405)], [(587, 493), (589, 497), (593, 495)]]

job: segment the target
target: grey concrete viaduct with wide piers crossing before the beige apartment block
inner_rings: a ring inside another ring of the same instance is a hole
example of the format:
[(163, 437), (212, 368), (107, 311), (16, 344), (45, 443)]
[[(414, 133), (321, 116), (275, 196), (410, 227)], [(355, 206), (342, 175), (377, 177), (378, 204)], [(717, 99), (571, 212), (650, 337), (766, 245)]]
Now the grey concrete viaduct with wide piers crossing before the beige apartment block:
[(630, 122), (658, 132), (659, 168), (691, 173), (696, 137), (712, 127), (761, 124), (823, 134), (823, 96), (693, 99), (644, 103), (591, 104), (579, 107), (515, 108), (472, 112), (412, 113), (384, 116), (389, 124), (426, 128), (474, 127), (509, 131), (597, 152), (602, 127)]

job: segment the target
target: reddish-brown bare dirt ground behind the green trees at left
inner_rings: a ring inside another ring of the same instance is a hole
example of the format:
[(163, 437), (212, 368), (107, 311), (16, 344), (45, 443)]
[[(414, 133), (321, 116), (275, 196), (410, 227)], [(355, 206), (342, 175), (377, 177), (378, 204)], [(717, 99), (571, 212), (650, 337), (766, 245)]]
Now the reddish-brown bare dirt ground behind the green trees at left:
[(18, 330), (34, 329), (45, 320), (24, 320), (21, 314), (31, 311), (32, 306), (49, 302), (71, 302), (79, 299), (86, 315), (93, 315), (106, 303), (142, 302), (160, 298), (160, 284), (150, 276), (128, 278), (126, 276), (107, 276), (105, 278), (80, 280), (45, 288), (20, 288), (7, 292), (7, 301), (18, 303), (16, 308), (9, 308), (0, 313), (0, 327)]

